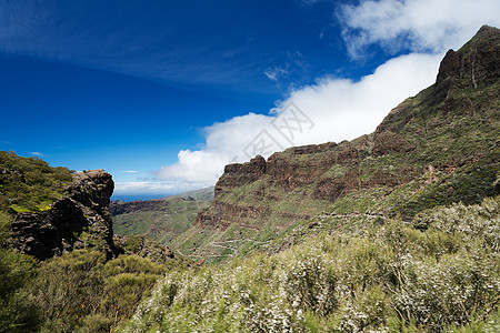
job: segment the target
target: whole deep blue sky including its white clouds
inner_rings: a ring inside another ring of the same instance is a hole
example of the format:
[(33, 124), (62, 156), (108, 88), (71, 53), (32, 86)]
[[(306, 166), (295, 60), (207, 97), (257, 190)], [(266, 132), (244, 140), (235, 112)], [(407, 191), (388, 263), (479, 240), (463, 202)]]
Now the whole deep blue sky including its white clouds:
[(0, 0), (0, 150), (104, 169), (117, 195), (210, 185), (262, 133), (271, 152), (372, 131), (497, 2)]

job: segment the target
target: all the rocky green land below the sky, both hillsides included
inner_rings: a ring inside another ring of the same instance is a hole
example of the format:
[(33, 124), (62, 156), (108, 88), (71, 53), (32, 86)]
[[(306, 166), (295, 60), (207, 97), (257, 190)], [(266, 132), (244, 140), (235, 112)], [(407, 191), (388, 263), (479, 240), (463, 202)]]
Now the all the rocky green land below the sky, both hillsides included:
[(0, 331), (498, 331), (499, 79), (484, 26), (373, 133), (229, 164), (211, 204), (0, 151)]

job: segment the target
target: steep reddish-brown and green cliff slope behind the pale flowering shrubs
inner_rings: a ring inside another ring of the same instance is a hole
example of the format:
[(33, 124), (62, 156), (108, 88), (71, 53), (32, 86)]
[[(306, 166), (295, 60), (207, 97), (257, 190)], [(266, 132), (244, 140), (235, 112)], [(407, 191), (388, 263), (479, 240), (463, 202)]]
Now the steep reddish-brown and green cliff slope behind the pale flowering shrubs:
[(408, 221), (499, 193), (499, 74), (500, 32), (484, 26), (447, 53), (433, 85), (394, 108), (373, 133), (227, 165), (213, 205), (178, 249), (233, 256), (326, 210)]

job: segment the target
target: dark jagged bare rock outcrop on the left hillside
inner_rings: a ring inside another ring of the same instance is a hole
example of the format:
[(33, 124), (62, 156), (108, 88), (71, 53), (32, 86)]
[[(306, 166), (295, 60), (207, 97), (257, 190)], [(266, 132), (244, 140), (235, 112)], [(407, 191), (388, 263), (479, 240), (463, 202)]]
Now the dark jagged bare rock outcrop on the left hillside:
[(103, 170), (77, 172), (66, 195), (37, 213), (19, 213), (12, 240), (21, 252), (46, 260), (73, 249), (98, 248), (116, 254), (109, 213), (114, 183)]

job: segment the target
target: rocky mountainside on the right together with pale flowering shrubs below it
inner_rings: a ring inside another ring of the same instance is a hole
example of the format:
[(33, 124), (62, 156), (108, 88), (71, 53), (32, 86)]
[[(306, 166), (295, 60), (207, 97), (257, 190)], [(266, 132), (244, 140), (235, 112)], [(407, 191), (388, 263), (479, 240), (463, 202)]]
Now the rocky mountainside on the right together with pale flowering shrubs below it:
[(178, 249), (226, 261), (167, 273), (120, 329), (498, 332), (499, 74), (482, 27), (373, 133), (227, 165)]

